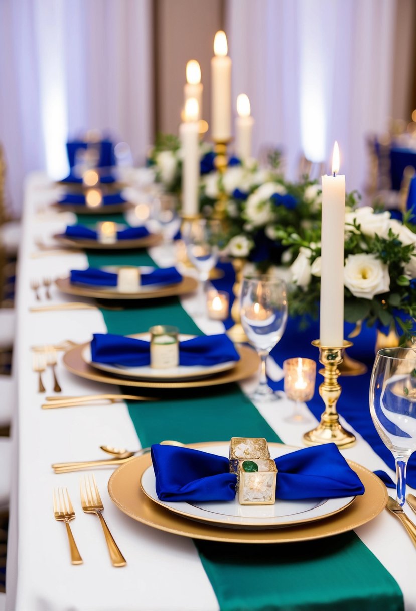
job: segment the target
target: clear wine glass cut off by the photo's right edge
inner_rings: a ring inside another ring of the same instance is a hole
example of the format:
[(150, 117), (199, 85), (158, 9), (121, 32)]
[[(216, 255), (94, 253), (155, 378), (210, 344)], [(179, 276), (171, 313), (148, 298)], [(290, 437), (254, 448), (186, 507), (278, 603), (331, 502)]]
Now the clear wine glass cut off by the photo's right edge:
[(416, 351), (378, 351), (370, 382), (370, 412), (396, 461), (397, 500), (406, 502), (407, 462), (416, 450)]

